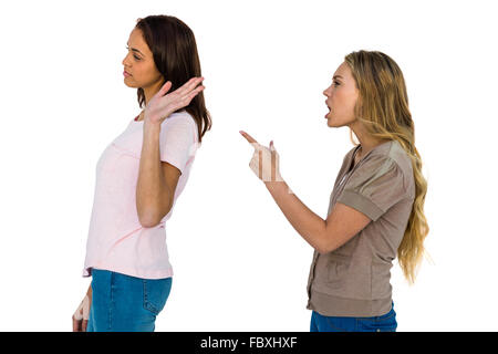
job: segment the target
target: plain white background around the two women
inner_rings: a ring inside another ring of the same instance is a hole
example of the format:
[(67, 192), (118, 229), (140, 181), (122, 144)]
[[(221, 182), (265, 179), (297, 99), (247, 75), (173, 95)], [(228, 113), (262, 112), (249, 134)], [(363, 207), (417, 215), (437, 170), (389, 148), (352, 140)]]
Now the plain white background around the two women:
[(139, 17), (194, 31), (214, 125), (167, 225), (173, 289), (156, 331), (309, 331), (312, 248), (251, 171), (270, 139), (297, 196), (326, 217), (347, 127), (323, 90), (347, 53), (401, 66), (428, 180), (417, 282), (392, 270), (398, 331), (496, 331), (494, 1), (1, 1), (0, 330), (71, 331), (95, 165), (138, 113), (123, 83)]

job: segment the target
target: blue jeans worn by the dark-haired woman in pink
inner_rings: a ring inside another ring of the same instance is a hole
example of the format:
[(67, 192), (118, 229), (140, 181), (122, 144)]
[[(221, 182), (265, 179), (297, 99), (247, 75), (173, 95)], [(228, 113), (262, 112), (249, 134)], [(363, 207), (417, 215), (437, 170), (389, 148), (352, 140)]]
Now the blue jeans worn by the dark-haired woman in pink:
[(172, 278), (142, 279), (92, 270), (92, 304), (86, 332), (154, 332)]

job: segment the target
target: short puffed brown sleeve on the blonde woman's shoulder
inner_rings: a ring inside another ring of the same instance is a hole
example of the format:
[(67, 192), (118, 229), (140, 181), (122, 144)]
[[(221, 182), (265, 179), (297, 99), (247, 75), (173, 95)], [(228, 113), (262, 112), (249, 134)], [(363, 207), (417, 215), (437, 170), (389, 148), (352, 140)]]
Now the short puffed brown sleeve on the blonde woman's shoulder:
[(350, 206), (375, 221), (405, 197), (401, 167), (388, 156), (374, 155), (354, 170), (336, 202)]

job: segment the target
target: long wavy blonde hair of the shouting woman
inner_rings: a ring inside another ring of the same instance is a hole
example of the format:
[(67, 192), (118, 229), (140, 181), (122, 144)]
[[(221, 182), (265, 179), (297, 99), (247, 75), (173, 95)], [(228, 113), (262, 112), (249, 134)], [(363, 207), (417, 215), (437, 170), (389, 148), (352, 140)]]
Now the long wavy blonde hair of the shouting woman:
[[(427, 180), (422, 175), (422, 159), (415, 147), (415, 127), (408, 110), (405, 80), (400, 66), (378, 51), (357, 51), (344, 58), (356, 81), (359, 98), (355, 117), (375, 138), (396, 139), (412, 159), (415, 199), (403, 240), (397, 249), (398, 263), (411, 284), (426, 253), (424, 239), (429, 227), (424, 215)], [(357, 145), (352, 137), (354, 145)]]

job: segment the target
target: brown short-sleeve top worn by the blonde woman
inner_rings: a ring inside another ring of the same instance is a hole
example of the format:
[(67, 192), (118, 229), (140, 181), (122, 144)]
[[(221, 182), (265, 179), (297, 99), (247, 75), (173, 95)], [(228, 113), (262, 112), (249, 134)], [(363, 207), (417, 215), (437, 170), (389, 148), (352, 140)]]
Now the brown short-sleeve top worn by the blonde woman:
[(392, 262), (415, 197), (412, 160), (397, 140), (377, 145), (352, 166), (359, 146), (344, 157), (330, 196), (372, 221), (340, 248), (314, 251), (307, 309), (329, 316), (376, 316), (392, 304)]

